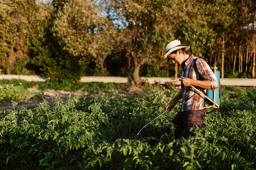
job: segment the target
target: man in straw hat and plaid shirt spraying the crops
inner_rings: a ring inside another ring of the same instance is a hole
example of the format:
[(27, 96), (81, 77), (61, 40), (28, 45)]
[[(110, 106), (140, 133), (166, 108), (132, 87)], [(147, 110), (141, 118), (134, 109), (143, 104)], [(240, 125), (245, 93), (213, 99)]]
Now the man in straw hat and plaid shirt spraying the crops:
[[(205, 94), (205, 89), (216, 90), (220, 85), (213, 71), (210, 69), (204, 59), (198, 58), (185, 52), (189, 46), (181, 45), (179, 40), (171, 41), (166, 46), (165, 58), (172, 59), (173, 63), (177, 63), (182, 67), (181, 90), (167, 105), (167, 112), (174, 108), (175, 102), (182, 98), (181, 110), (176, 114), (172, 124), (176, 126), (174, 130), (175, 139), (181, 138), (182, 131), (185, 130), (185, 138), (189, 135), (195, 136), (191, 128), (203, 128), (203, 118), (206, 114), (206, 105), (204, 104), (204, 96), (193, 90), (191, 86), (195, 86), (198, 90)], [(198, 59), (197, 59), (198, 58)], [(196, 59), (196, 67), (198, 73), (203, 80), (197, 79), (194, 69)]]

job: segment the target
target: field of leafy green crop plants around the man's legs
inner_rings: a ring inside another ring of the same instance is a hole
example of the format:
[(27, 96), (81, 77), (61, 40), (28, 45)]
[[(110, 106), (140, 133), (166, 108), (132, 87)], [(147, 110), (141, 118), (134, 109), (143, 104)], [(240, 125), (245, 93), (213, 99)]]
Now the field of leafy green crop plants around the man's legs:
[[(22, 84), (13, 86), (28, 86)], [(205, 117), (196, 137), (166, 133), (180, 104), (137, 136), (176, 94), (152, 87), (140, 95), (55, 97), (35, 108), (13, 102), (14, 109), (0, 111), (0, 168), (256, 169), (255, 88), (222, 87), (220, 109)]]

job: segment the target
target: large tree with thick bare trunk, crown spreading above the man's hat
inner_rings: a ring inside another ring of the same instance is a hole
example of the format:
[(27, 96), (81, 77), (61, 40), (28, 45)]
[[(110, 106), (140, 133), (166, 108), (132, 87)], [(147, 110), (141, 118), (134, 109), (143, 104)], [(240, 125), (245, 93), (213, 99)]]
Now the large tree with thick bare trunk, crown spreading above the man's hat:
[(164, 47), (171, 40), (183, 40), (199, 54), (213, 44), (201, 1), (108, 2), (108, 16), (120, 29), (120, 49), (134, 63), (135, 84), (141, 83), (139, 70), (144, 63), (163, 62)]

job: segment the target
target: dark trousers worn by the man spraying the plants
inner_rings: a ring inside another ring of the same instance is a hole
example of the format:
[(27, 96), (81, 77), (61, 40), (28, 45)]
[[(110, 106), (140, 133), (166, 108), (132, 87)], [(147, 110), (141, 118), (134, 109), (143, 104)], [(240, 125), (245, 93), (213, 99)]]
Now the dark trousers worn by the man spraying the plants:
[(206, 109), (201, 110), (191, 110), (185, 112), (178, 112), (174, 119), (172, 120), (172, 124), (174, 124), (174, 137), (175, 139), (181, 138), (181, 133), (185, 130), (185, 138), (189, 136), (195, 136), (193, 131), (190, 131), (191, 128), (198, 127), (199, 130), (203, 128), (203, 118), (206, 114)]

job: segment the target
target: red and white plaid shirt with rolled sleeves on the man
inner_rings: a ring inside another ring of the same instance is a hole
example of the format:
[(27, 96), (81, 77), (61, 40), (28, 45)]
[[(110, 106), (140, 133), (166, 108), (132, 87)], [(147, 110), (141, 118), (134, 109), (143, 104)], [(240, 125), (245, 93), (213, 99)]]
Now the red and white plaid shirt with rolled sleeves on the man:
[[(182, 75), (183, 77), (188, 77), (191, 79), (196, 80), (196, 73), (193, 69), (193, 64), (195, 59), (198, 57), (194, 57), (193, 54), (188, 57), (187, 61), (185, 61), (185, 65), (182, 66)], [(220, 87), (218, 84), (218, 80), (216, 78), (216, 75), (214, 75), (213, 71), (210, 69), (210, 66), (207, 64), (207, 62), (204, 61), (204, 59), (197, 59), (196, 66), (199, 74), (205, 79), (210, 80), (210, 87), (212, 90), (216, 90)], [(188, 110), (200, 110), (206, 108), (206, 105), (204, 103), (204, 96), (200, 95), (198, 92), (193, 90), (192, 87), (183, 87), (184, 85), (181, 84), (181, 87), (183, 88), (183, 94), (182, 94), (182, 105), (181, 105), (181, 112), (188, 111)], [(206, 90), (202, 88), (198, 88), (198, 90), (202, 91), (204, 94), (206, 94)]]

